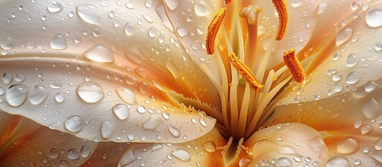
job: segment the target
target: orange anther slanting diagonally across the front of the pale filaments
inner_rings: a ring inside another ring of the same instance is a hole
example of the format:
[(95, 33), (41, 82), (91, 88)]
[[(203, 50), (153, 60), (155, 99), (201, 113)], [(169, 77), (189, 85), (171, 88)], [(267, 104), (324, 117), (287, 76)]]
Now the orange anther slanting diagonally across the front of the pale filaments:
[(240, 59), (236, 56), (236, 54), (232, 53), (228, 55), (232, 65), (237, 69), (237, 71), (241, 74), (241, 76), (248, 81), (248, 83), (256, 90), (257, 93), (262, 90), (262, 85), (257, 81), (255, 74), (250, 71), (249, 67), (242, 63)]

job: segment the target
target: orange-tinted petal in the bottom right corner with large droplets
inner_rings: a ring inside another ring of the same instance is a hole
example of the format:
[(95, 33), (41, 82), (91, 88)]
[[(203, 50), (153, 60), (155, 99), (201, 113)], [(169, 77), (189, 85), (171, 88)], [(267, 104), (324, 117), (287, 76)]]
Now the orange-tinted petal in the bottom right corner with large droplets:
[(329, 166), (382, 166), (382, 139), (357, 136), (324, 138)]

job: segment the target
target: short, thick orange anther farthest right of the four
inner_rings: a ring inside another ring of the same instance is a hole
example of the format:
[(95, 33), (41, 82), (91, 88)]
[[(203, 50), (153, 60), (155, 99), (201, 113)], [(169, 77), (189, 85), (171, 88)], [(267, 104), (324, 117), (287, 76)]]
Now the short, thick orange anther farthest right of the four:
[(296, 82), (302, 82), (305, 79), (303, 66), (294, 54), (294, 49), (290, 49), (285, 51), (284, 53), (284, 62), (289, 68), (290, 72), (292, 72), (292, 76)]

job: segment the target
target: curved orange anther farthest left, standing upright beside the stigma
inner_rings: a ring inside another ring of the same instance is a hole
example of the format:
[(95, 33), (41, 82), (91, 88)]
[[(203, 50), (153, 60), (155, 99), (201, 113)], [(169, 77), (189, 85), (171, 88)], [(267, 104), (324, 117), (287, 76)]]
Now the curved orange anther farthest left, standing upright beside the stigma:
[(207, 40), (205, 42), (207, 54), (214, 54), (215, 52), (215, 38), (218, 30), (223, 22), (225, 13), (227, 13), (227, 8), (223, 7), (215, 14), (214, 19), (209, 23), (207, 29)]

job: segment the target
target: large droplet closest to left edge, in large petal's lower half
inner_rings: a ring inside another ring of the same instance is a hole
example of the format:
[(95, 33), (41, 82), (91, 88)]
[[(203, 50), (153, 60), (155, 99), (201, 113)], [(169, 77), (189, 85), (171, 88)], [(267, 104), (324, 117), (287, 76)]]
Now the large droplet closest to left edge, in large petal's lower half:
[(29, 88), (24, 85), (13, 85), (6, 91), (6, 100), (10, 106), (21, 106), (24, 104), (29, 93)]

